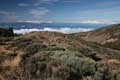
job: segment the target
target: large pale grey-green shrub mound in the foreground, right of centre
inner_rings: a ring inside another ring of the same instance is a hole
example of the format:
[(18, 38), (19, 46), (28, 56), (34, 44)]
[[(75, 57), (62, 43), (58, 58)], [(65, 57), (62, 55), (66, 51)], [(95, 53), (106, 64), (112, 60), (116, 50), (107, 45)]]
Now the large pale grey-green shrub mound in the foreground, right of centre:
[(55, 59), (60, 59), (64, 64), (71, 67), (75, 74), (79, 76), (88, 76), (95, 73), (96, 62), (90, 58), (83, 57), (81, 53), (78, 52), (55, 52), (52, 55)]

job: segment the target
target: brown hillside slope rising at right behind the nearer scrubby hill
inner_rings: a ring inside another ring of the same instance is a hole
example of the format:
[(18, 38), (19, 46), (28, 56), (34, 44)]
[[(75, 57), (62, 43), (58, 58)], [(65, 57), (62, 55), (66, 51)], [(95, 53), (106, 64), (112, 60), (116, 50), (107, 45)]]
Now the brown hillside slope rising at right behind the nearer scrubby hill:
[(95, 31), (77, 34), (76, 36), (90, 42), (120, 50), (120, 24), (114, 24)]

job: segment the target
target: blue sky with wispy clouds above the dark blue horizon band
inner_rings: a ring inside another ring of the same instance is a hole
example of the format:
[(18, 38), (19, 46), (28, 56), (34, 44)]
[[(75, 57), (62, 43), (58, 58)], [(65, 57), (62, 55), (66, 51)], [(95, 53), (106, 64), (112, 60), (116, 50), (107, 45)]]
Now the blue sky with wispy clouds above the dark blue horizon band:
[(1, 22), (120, 22), (120, 0), (0, 0)]

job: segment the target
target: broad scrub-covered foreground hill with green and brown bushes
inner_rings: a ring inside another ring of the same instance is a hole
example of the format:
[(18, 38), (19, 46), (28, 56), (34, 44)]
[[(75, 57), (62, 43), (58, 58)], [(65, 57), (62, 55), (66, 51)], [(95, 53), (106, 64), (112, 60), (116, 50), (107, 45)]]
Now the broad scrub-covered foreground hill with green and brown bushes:
[(73, 34), (0, 38), (0, 80), (119, 80), (120, 51)]

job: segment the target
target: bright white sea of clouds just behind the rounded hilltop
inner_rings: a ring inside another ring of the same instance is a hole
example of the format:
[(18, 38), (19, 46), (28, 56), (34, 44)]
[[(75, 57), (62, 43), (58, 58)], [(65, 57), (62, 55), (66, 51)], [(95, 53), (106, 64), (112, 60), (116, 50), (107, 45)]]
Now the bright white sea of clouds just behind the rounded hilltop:
[(70, 34), (70, 33), (78, 33), (78, 32), (86, 32), (86, 31), (91, 31), (93, 28), (43, 28), (43, 29), (38, 29), (38, 28), (32, 28), (32, 29), (15, 29), (14, 33), (16, 34), (25, 34), (25, 33), (30, 33), (34, 31), (50, 31), (50, 32), (61, 32), (65, 34)]

